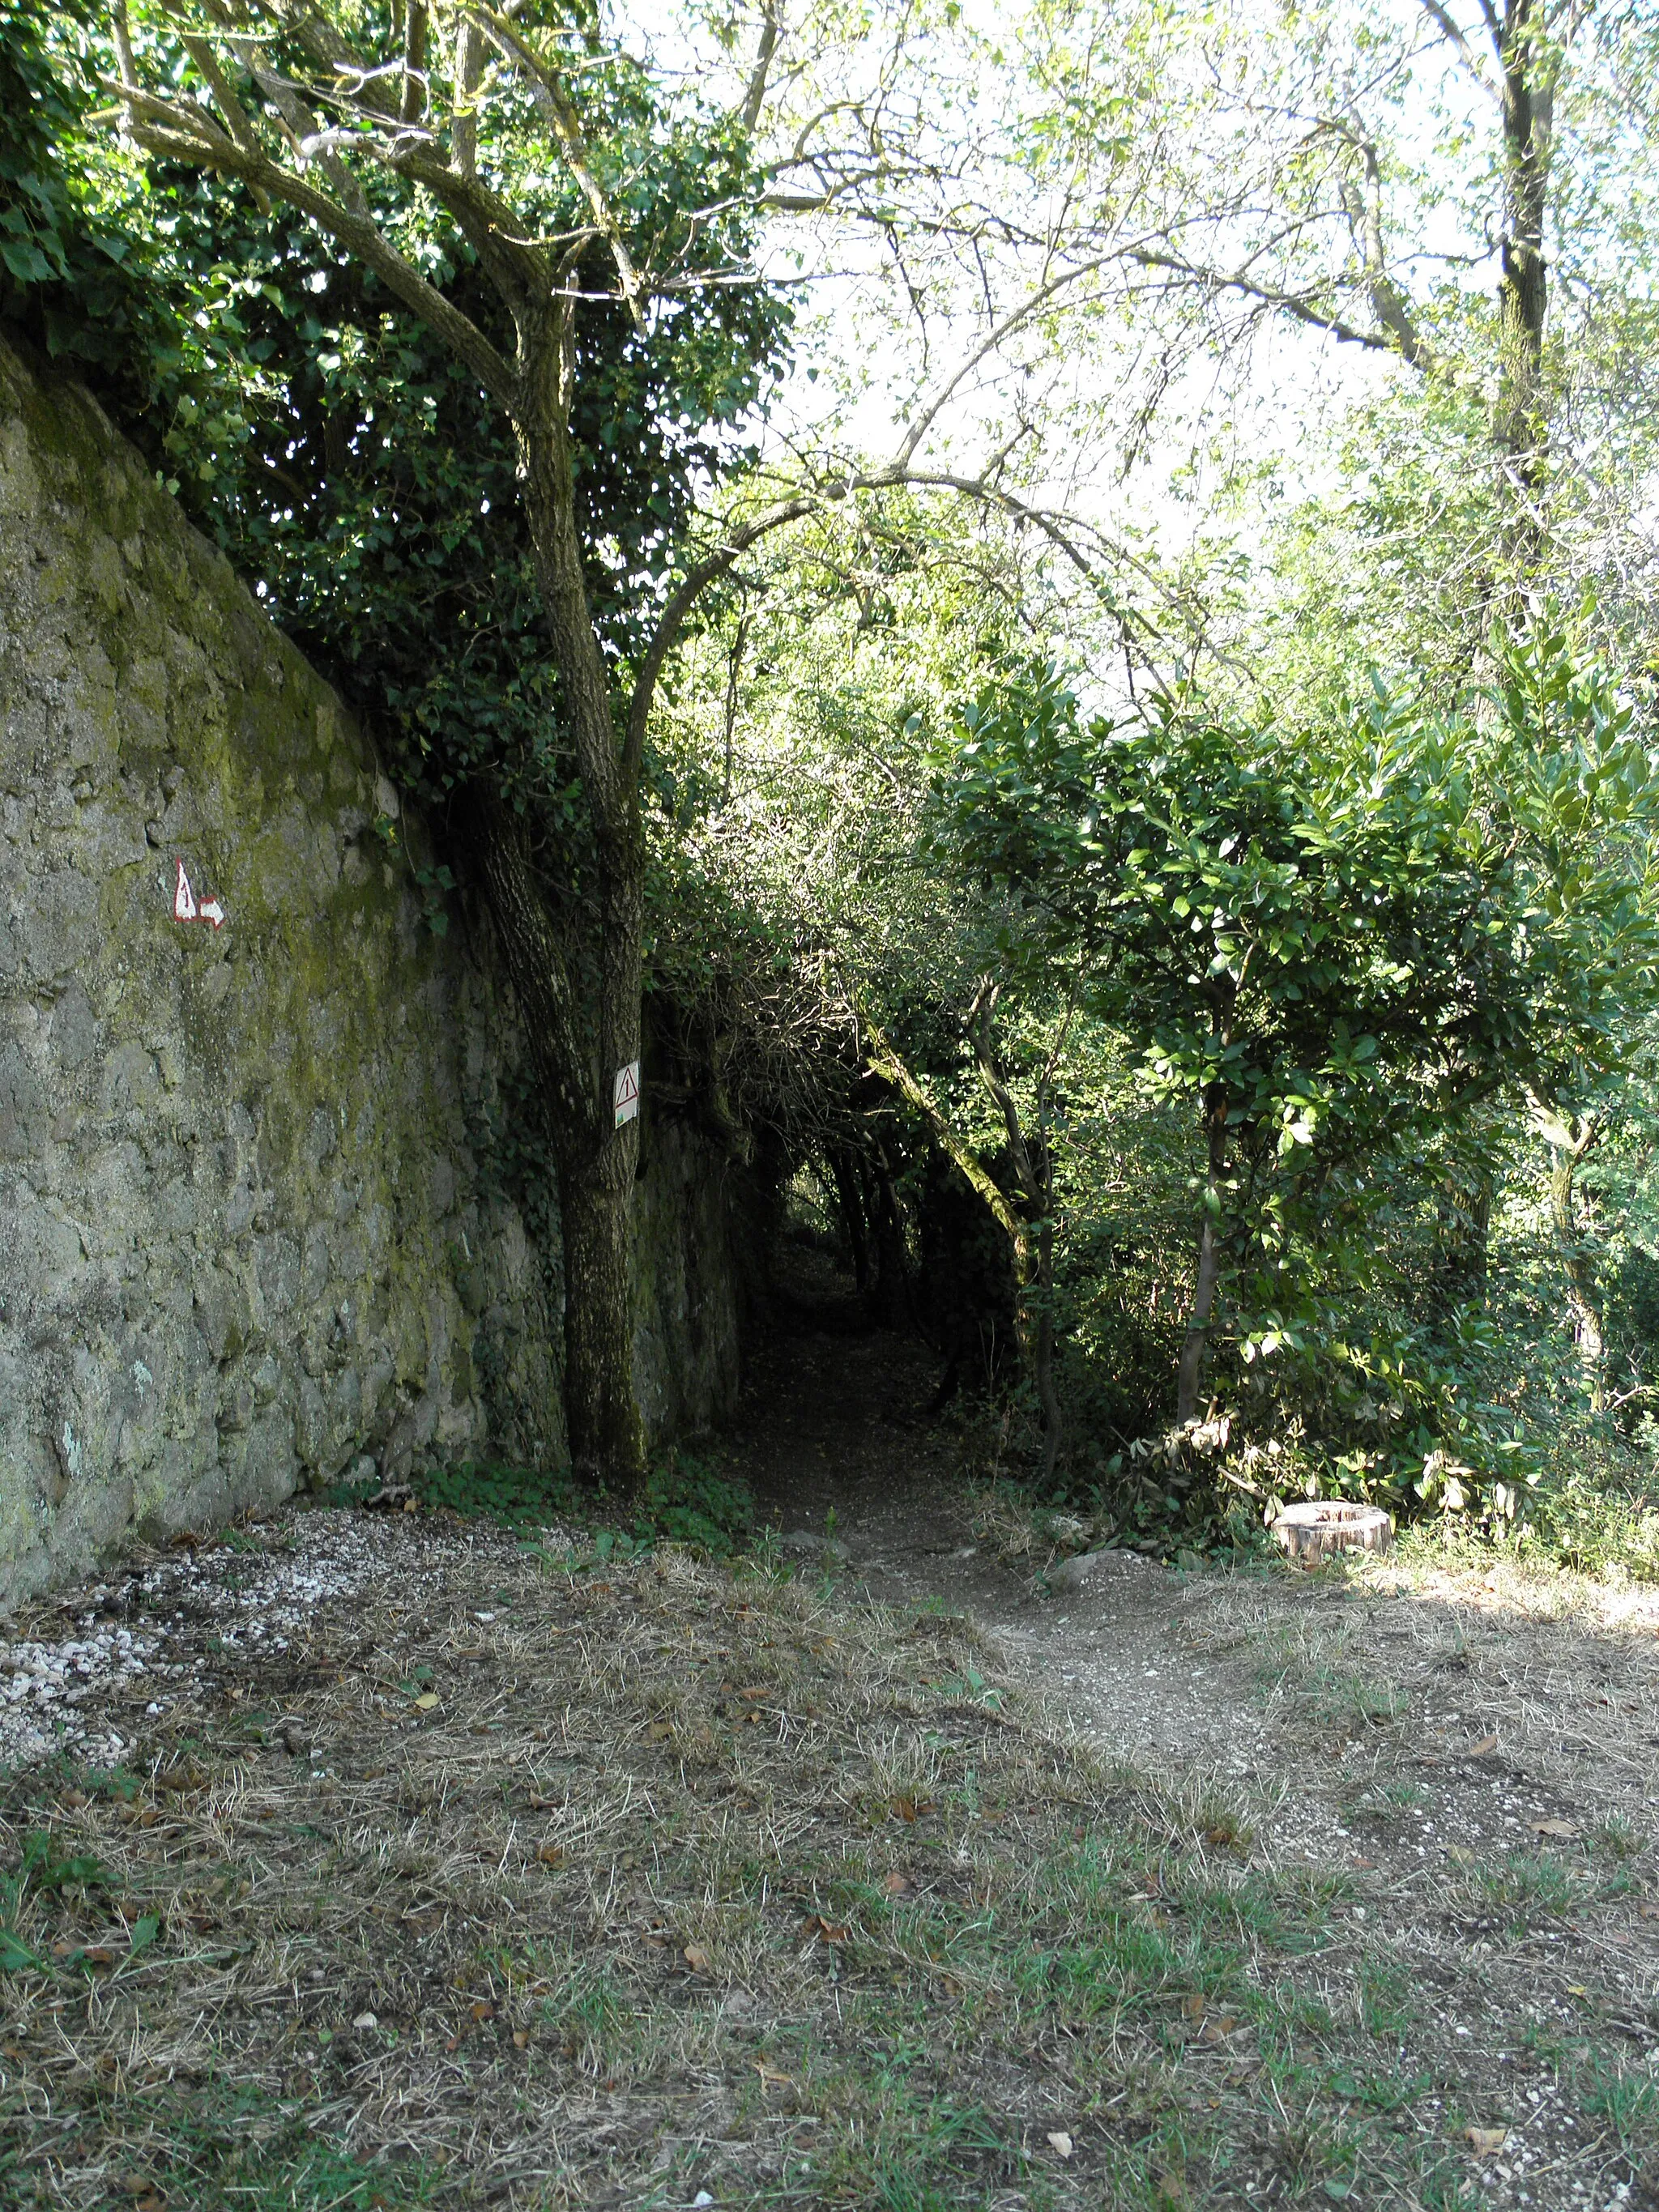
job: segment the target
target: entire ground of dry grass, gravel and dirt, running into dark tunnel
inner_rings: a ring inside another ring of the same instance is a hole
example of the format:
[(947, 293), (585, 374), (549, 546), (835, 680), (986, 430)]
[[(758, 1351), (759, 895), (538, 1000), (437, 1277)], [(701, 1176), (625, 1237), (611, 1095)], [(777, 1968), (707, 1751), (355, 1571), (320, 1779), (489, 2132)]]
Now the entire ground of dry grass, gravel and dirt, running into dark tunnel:
[(754, 1360), (794, 1577), (296, 1506), (29, 1608), (0, 2205), (1659, 2212), (1659, 1595), (1055, 1593), (933, 1383)]

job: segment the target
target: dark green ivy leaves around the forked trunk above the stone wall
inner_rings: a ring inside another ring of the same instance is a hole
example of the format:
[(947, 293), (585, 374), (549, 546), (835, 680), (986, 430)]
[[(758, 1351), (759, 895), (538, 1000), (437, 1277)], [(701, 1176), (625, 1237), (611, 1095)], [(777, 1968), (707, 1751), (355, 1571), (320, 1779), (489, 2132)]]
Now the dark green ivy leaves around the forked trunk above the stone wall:
[[(493, 111), (491, 111), (493, 113)], [(699, 498), (752, 458), (737, 434), (787, 349), (792, 307), (770, 285), (697, 283), (739, 265), (754, 177), (741, 133), (670, 108), (624, 55), (595, 55), (584, 117), (641, 265), (677, 263), (637, 332), (606, 301), (595, 243), (573, 407), (577, 526), (608, 653), (630, 659), (661, 608)], [(575, 184), (526, 166), (511, 131), (487, 148), (518, 177), (542, 234), (584, 219)], [(385, 175), (376, 217), (427, 279), (511, 354), (511, 332), (462, 234)], [(690, 210), (723, 208), (692, 221)], [(288, 208), (153, 166), (131, 219), (157, 283), (234, 356), (246, 425), (181, 422), (179, 480), (279, 622), (385, 732), (398, 779), (442, 796), (480, 768), (533, 799), (575, 858), (584, 810), (524, 524), (511, 425), (378, 279)]]

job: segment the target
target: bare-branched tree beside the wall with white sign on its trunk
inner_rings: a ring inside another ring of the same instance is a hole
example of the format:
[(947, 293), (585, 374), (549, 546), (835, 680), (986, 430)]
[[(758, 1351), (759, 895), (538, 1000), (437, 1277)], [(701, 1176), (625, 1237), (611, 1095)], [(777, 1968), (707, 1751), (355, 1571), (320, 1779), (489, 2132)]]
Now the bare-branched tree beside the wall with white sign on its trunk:
[[(591, 896), (553, 905), (522, 783), (480, 763), (460, 794), (480, 887), (524, 1018), (555, 1152), (564, 1241), (564, 1398), (577, 1471), (630, 1484), (644, 1467), (633, 1387), (630, 1219), (637, 1124), (617, 1126), (613, 1077), (639, 1057), (648, 841), (641, 768), (664, 666), (703, 593), (770, 531), (854, 491), (900, 482), (987, 502), (1091, 557), (1006, 478), (1009, 449), (980, 473), (931, 462), (925, 440), (964, 376), (1033, 325), (1053, 294), (1037, 279), (964, 367), (918, 400), (891, 458), (803, 467), (779, 495), (695, 531), (670, 500), (648, 564), (606, 544), (582, 418), (593, 376), (617, 363), (617, 316), (650, 347), (688, 303), (754, 285), (750, 219), (763, 208), (896, 221), (891, 115), (854, 104), (865, 146), (847, 175), (818, 175), (823, 133), (794, 161), (750, 159), (779, 15), (765, 7), (754, 69), (734, 108), (695, 119), (723, 159), (664, 161), (672, 137), (648, 69), (584, 9), (484, 0), (115, 0), (111, 111), (131, 144), (208, 179), (223, 234), (246, 201), (285, 204), (316, 237), (316, 281), (341, 259), (374, 279), (447, 349), (511, 436), (560, 748), (577, 770)], [(938, 164), (911, 164), (938, 177)], [(805, 190), (781, 175), (805, 170)], [(854, 175), (856, 173), (856, 175)], [(874, 195), (874, 199), (872, 199)], [(872, 201), (865, 208), (865, 201)], [(876, 206), (878, 201), (878, 206)], [(938, 228), (938, 226), (936, 226)], [(951, 228), (951, 226), (945, 226)], [(980, 237), (982, 212), (967, 219)], [(595, 343), (604, 325), (611, 338)], [(703, 400), (708, 394), (703, 394)], [(708, 520), (708, 518), (706, 518)], [(664, 551), (666, 546), (666, 551)], [(595, 584), (599, 599), (595, 604)], [(615, 599), (637, 595), (617, 624)]]

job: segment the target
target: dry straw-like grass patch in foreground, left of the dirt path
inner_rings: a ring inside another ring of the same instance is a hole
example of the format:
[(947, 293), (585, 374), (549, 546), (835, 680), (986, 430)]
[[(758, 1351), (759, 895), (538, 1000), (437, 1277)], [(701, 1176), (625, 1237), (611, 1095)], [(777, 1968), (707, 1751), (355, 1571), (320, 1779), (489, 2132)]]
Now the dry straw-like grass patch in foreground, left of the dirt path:
[[(1486, 2201), (1482, 1962), (1425, 1986), (1259, 1796), (1093, 1759), (964, 1621), (422, 1528), (425, 1582), (204, 1652), (124, 1774), (9, 1783), (0, 2203)], [(1641, 1887), (1462, 1874), (1471, 1931), (1606, 1942)], [(1575, 2201), (1639, 2203), (1650, 2077), (1551, 2035)]]

